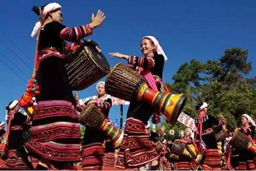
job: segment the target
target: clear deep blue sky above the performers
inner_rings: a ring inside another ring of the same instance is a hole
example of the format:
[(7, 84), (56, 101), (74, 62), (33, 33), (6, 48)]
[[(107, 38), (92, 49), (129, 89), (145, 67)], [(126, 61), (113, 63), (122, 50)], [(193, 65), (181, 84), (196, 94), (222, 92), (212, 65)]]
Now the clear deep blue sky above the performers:
[[(15, 3), (14, 3), (15, 2)], [(26, 2), (26, 3), (24, 3)], [(34, 61), (35, 40), (30, 37), (38, 19), (31, 11), (33, 5), (41, 6), (46, 0), (1, 0), (0, 40), (4, 41), (30, 67), (33, 63), (1, 32), (4, 31), (22, 51)], [(172, 83), (178, 67), (191, 59), (206, 62), (218, 59), (225, 49), (241, 47), (249, 50), (249, 61), (256, 75), (256, 1), (255, 0), (62, 0), (63, 24), (72, 27), (90, 22), (91, 13), (102, 9), (106, 14), (103, 25), (93, 31), (90, 38), (97, 41), (111, 66), (121, 59), (110, 58), (109, 52), (141, 55), (140, 39), (154, 35), (162, 45), (168, 61), (164, 79)], [(31, 70), (1, 41), (0, 52), (25, 72), (25, 76), (1, 53), (0, 59), (15, 70), (25, 81)], [(26, 84), (0, 62), (0, 120), (4, 119), (5, 106), (24, 93)], [(79, 97), (92, 96), (95, 85), (79, 92)], [(127, 106), (124, 107), (126, 115)], [(119, 107), (111, 109), (110, 118), (119, 119)]]

